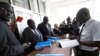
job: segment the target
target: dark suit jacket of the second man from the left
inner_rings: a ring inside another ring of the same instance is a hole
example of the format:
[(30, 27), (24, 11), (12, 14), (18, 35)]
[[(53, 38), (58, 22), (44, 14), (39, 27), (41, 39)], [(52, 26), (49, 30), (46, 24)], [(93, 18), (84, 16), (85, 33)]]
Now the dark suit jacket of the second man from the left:
[[(37, 30), (38, 31), (38, 30)], [(38, 31), (38, 33), (41, 35), (40, 37), (42, 37), (42, 34)], [(23, 41), (24, 43), (31, 43), (31, 46), (28, 48), (29, 52), (35, 50), (34, 47), (36, 45), (37, 42), (41, 42), (43, 39), (40, 39), (34, 32), (32, 32), (31, 28), (26, 27), (22, 33), (23, 36)]]

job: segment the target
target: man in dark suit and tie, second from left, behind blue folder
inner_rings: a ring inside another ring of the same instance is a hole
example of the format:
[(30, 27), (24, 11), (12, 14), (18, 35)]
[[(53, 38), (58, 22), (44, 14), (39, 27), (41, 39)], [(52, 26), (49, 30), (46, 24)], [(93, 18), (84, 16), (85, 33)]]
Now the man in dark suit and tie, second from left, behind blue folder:
[(27, 21), (28, 27), (26, 27), (22, 33), (24, 43), (31, 43), (30, 47), (27, 48), (27, 53), (35, 50), (37, 42), (43, 41), (42, 34), (35, 27), (35, 22), (32, 19)]

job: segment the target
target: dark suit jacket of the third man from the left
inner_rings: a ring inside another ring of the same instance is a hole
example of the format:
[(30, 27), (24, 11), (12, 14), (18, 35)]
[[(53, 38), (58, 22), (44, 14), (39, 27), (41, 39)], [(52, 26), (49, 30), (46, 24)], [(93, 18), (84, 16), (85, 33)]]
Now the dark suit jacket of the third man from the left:
[[(48, 27), (51, 29), (51, 25), (49, 23), (48, 23)], [(37, 28), (42, 33), (44, 39), (45, 39), (45, 36), (52, 36), (53, 35), (52, 31), (51, 30), (48, 31), (48, 29), (44, 23), (39, 24)]]

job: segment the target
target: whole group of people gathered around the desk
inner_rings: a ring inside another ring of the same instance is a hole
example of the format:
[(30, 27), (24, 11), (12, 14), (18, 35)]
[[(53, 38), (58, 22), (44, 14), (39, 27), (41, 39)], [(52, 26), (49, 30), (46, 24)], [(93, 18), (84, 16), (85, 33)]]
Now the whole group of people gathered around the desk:
[(62, 22), (60, 26), (55, 23), (53, 29), (47, 16), (44, 16), (43, 22), (37, 27), (33, 19), (28, 19), (28, 26), (22, 32), (22, 43), (16, 38), (18, 35), (14, 34), (15, 29), (7, 24), (12, 11), (10, 4), (0, 2), (0, 56), (25, 56), (36, 50), (35, 45), (38, 42), (46, 41), (50, 36), (65, 39), (65, 34), (69, 34), (68, 38), (71, 40), (77, 39), (80, 44), (74, 47), (75, 56), (99, 56), (100, 22), (91, 18), (88, 8), (81, 8), (72, 22), (68, 17), (67, 23)]

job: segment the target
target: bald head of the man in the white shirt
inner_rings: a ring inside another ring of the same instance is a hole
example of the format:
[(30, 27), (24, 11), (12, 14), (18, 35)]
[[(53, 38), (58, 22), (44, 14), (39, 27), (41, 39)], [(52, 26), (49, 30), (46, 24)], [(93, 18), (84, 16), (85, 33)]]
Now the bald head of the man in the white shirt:
[(85, 23), (88, 19), (90, 19), (90, 12), (88, 8), (81, 8), (76, 15), (76, 20), (80, 23), (83, 24)]

